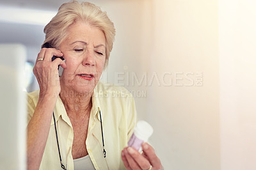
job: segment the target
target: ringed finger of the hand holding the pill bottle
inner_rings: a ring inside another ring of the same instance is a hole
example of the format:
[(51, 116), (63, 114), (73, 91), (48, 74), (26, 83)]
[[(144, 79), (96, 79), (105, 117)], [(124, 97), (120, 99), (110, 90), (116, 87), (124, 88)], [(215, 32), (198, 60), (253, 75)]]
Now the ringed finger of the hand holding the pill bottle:
[(134, 148), (129, 147), (127, 148), (127, 151), (129, 152), (133, 160), (136, 161), (138, 166), (140, 166), (141, 169), (148, 169), (150, 167), (150, 162), (148, 162), (148, 160), (145, 157), (143, 157), (143, 155), (141, 155), (137, 150), (134, 150)]

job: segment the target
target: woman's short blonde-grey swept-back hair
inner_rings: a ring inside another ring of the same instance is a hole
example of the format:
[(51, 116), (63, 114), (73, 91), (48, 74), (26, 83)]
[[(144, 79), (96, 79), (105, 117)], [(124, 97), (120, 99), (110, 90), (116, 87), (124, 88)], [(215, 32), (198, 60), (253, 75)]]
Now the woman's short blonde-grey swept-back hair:
[(102, 12), (99, 6), (95, 4), (79, 1), (62, 4), (58, 13), (44, 28), (44, 43), (48, 42), (55, 48), (60, 47), (61, 42), (67, 38), (68, 27), (77, 21), (97, 27), (104, 33), (106, 39), (106, 67), (115, 40), (115, 27), (107, 13)]

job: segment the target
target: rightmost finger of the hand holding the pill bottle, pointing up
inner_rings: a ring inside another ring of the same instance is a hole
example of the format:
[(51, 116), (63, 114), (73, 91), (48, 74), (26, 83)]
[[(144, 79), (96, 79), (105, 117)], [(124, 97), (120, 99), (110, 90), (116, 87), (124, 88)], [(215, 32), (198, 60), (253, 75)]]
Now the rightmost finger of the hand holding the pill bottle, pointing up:
[(152, 146), (150, 146), (150, 144), (148, 143), (143, 143), (142, 144), (142, 148), (143, 148), (143, 152), (145, 152), (145, 154), (147, 155), (151, 165), (153, 167), (161, 167), (161, 162), (159, 160), (159, 158), (157, 157), (154, 148)]

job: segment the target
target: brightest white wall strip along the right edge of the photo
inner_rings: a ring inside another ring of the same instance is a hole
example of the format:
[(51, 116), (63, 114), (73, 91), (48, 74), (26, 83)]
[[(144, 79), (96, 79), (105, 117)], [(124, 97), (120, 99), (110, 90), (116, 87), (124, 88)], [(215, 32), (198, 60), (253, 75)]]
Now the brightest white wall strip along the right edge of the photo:
[(256, 169), (256, 2), (220, 2), (221, 170)]

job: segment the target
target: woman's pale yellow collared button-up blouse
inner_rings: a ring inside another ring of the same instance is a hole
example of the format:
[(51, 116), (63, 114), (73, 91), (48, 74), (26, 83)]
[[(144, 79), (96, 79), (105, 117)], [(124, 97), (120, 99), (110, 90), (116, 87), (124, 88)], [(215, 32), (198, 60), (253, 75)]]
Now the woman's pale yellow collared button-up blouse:
[[(28, 93), (28, 122), (35, 111), (38, 95), (39, 90)], [(102, 116), (106, 158), (103, 154), (99, 111)], [(71, 153), (74, 132), (60, 96), (54, 108), (54, 117), (62, 164), (67, 164), (68, 170), (74, 170)], [(127, 146), (135, 124), (136, 108), (131, 93), (123, 87), (99, 82), (93, 91), (92, 110), (85, 141), (95, 169), (125, 169), (121, 151)], [(40, 164), (40, 170), (42, 169), (61, 169), (53, 118)]]

